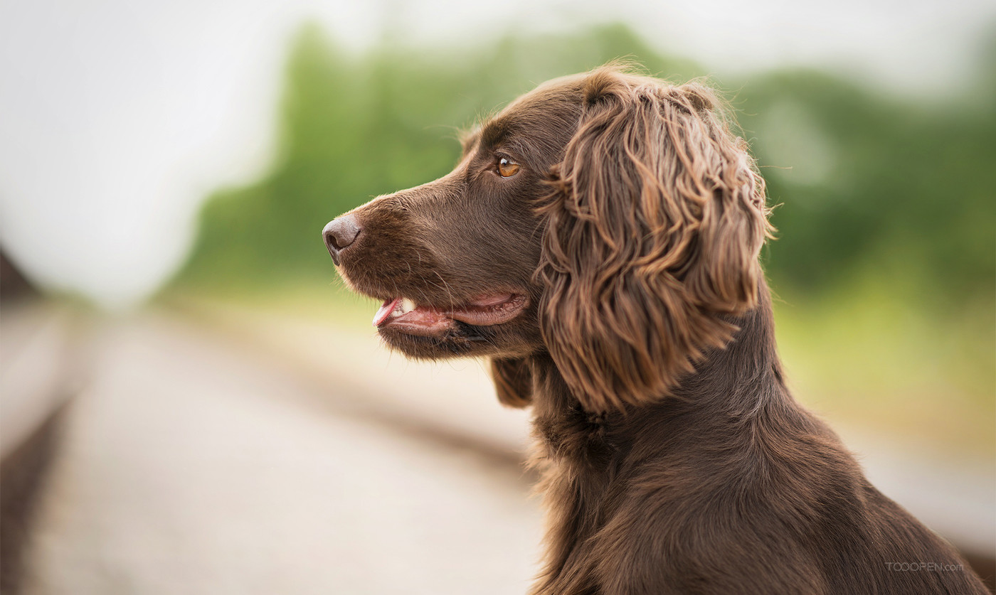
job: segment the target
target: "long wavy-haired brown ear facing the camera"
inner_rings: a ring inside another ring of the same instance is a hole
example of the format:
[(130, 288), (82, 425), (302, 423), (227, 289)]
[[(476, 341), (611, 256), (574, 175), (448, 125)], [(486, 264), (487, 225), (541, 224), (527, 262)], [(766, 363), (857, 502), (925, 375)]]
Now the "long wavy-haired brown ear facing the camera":
[(705, 87), (597, 71), (551, 174), (540, 326), (589, 411), (665, 397), (757, 303), (764, 183)]

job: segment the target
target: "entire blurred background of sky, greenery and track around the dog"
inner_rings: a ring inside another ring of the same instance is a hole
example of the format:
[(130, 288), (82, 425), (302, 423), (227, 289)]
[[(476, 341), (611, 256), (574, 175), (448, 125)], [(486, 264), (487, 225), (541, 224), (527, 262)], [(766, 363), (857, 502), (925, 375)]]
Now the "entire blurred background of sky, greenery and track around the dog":
[(0, 589), (524, 592), (528, 414), (320, 232), (616, 58), (731, 100), (795, 396), (991, 581), (996, 5), (806, 4), (0, 3)]

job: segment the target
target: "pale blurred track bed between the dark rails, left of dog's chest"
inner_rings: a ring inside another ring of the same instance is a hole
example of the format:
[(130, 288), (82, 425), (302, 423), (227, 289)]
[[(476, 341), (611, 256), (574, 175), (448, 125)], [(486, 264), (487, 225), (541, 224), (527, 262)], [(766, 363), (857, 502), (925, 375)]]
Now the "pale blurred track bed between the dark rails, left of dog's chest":
[(162, 317), (93, 349), (27, 592), (525, 591), (540, 518), (515, 453), (398, 431), (346, 382)]

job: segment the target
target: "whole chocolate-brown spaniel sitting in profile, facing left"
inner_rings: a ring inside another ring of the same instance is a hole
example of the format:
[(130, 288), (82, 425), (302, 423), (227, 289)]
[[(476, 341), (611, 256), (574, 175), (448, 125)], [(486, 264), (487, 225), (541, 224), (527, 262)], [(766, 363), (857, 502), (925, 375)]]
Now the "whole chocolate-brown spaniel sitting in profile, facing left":
[(552, 81), (326, 243), (389, 347), (488, 356), (532, 406), (533, 593), (986, 593), (786, 389), (764, 184), (717, 103), (614, 68)]

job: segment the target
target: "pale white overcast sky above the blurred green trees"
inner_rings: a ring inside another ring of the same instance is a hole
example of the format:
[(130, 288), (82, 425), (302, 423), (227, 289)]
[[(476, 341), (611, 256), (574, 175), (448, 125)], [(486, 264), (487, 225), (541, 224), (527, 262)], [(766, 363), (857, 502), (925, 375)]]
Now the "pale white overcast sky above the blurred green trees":
[(0, 2), (3, 248), (37, 282), (109, 306), (154, 291), (199, 201), (267, 162), (287, 41), (309, 17), (357, 51), (385, 28), (444, 45), (622, 21), (717, 74), (820, 64), (928, 95), (967, 82), (996, 2)]

